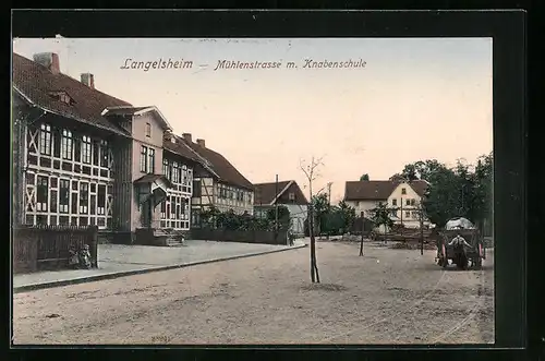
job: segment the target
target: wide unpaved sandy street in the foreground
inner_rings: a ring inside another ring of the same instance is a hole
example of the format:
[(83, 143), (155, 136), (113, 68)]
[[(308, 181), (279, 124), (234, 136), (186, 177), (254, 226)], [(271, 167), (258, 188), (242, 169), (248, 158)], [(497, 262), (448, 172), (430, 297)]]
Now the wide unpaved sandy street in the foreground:
[(435, 251), (319, 242), (175, 270), (14, 294), (14, 344), (428, 344), (494, 341), (493, 252), (483, 270)]

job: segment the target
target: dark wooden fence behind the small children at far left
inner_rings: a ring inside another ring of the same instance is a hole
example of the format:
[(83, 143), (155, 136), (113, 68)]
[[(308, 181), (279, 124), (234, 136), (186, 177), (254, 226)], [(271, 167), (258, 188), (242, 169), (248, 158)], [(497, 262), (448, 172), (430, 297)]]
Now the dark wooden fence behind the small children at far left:
[(89, 246), (90, 263), (98, 267), (98, 228), (21, 226), (13, 229), (13, 273), (69, 267), (70, 249)]

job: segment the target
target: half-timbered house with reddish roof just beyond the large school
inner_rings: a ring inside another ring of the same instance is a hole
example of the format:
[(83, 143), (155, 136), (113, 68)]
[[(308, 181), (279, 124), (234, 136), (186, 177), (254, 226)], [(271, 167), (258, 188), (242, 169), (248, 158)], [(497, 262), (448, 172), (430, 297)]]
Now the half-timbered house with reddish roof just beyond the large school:
[(252, 215), (254, 185), (221, 154), (206, 146), (205, 140), (193, 142), (192, 134), (175, 136), (199, 159), (193, 173), (192, 225), (199, 227), (201, 213), (216, 207), (220, 212)]

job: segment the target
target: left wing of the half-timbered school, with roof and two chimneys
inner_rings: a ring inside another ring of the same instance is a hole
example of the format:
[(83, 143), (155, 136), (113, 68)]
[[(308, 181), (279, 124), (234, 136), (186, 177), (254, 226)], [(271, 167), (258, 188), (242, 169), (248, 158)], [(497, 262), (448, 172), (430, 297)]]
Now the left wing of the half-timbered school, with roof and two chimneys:
[(56, 53), (34, 60), (13, 56), (14, 218), (112, 228), (113, 145), (131, 135), (100, 112), (129, 104), (60, 73)]

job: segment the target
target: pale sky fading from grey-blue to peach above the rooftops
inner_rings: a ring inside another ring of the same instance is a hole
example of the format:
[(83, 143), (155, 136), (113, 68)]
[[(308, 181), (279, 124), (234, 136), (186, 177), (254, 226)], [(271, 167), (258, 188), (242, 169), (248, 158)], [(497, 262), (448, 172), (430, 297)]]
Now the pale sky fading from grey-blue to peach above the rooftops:
[[(57, 52), (61, 72), (90, 72), (97, 89), (157, 106), (177, 134), (192, 133), (251, 182), (295, 180), (322, 158), (313, 189), (368, 173), (387, 180), (405, 164), (474, 161), (493, 149), (492, 38), (13, 40), (33, 58)], [(128, 60), (130, 59), (130, 60)], [(179, 69), (131, 63), (191, 61)], [(216, 69), (218, 62), (280, 62)], [(308, 68), (312, 62), (363, 63)], [(288, 62), (295, 67), (288, 68)]]

